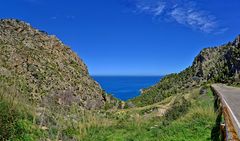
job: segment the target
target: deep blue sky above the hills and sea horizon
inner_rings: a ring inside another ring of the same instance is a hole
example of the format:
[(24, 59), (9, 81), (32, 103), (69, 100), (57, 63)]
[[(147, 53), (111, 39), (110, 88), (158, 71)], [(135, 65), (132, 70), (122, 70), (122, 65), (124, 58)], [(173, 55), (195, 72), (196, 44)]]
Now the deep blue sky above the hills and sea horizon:
[(1, 0), (0, 18), (56, 35), (91, 75), (165, 75), (240, 34), (239, 0)]

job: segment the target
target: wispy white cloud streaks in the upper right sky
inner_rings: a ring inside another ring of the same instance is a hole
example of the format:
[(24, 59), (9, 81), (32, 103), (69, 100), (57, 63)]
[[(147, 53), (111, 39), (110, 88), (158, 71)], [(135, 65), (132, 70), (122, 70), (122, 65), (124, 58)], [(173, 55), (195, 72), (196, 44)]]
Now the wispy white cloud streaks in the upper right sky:
[[(136, 8), (152, 16), (164, 17), (186, 27), (206, 33), (224, 33), (227, 28), (220, 28), (214, 15), (197, 7), (190, 0), (137, 0)], [(168, 20), (169, 21), (169, 20)]]

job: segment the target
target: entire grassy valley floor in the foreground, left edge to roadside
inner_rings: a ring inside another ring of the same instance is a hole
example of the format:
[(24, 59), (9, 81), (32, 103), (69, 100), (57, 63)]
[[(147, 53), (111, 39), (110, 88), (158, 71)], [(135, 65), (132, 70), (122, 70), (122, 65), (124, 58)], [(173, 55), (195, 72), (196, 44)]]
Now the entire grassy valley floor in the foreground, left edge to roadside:
[[(0, 140), (202, 141), (210, 140), (216, 119), (210, 89), (203, 95), (194, 89), (123, 110), (84, 111), (73, 106), (68, 116), (61, 108), (57, 113), (46, 110), (44, 118), (11, 91), (0, 97)], [(157, 116), (159, 109), (165, 109), (165, 116)], [(41, 120), (48, 122), (41, 126)]]

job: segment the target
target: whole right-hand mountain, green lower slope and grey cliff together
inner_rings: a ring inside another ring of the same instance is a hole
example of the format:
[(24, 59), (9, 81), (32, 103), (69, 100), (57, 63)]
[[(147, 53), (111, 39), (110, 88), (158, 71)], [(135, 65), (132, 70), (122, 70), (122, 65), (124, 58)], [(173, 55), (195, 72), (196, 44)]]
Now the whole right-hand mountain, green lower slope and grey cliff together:
[(239, 74), (240, 36), (237, 36), (227, 44), (203, 49), (195, 57), (192, 66), (180, 73), (165, 76), (159, 83), (144, 89), (139, 97), (128, 102), (145, 106), (208, 83), (239, 85)]

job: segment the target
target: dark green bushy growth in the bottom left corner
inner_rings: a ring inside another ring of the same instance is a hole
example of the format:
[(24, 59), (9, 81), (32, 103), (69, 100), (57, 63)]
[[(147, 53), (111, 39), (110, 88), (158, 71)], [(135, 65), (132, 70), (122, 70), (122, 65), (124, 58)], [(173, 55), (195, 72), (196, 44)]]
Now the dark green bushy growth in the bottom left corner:
[(21, 104), (16, 95), (11, 95), (14, 93), (8, 94), (0, 94), (0, 140), (34, 141), (44, 137), (44, 130), (34, 122), (32, 107)]

